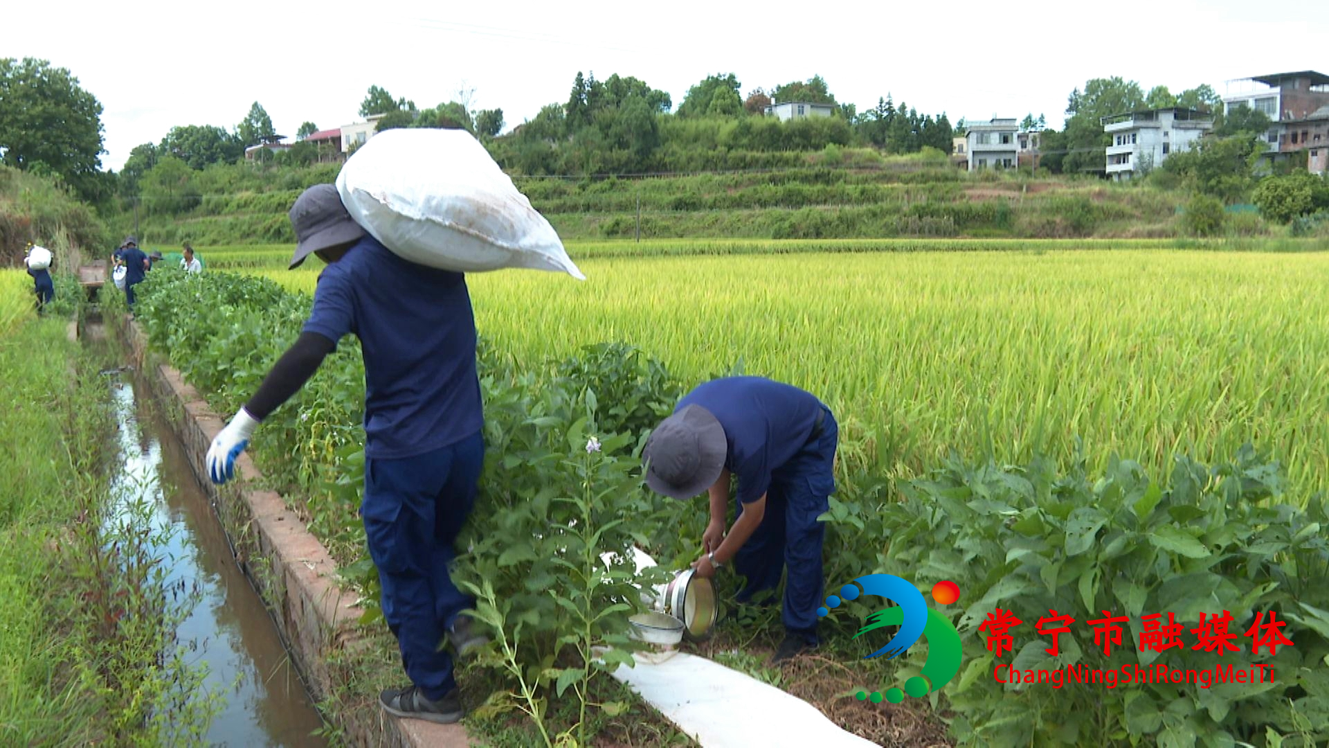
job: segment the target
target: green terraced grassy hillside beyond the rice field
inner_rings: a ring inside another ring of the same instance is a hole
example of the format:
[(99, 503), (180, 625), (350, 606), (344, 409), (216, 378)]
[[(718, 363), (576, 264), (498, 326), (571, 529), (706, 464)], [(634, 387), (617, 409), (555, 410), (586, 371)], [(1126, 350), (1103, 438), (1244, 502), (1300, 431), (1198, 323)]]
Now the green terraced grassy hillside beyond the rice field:
[[(336, 173), (335, 165), (210, 168), (191, 176), (198, 194), (187, 205), (169, 210), (145, 197), (140, 240), (161, 246), (291, 242), (287, 212), (295, 198)], [(570, 242), (638, 233), (647, 240), (1185, 234), (1179, 212), (1187, 196), (1177, 190), (1015, 172), (969, 174), (945, 158), (921, 156), (831, 164), (821, 154), (803, 154), (777, 169), (633, 178), (516, 176), (513, 182)], [(1232, 236), (1271, 233), (1255, 214), (1233, 214), (1227, 224), (1224, 233)]]

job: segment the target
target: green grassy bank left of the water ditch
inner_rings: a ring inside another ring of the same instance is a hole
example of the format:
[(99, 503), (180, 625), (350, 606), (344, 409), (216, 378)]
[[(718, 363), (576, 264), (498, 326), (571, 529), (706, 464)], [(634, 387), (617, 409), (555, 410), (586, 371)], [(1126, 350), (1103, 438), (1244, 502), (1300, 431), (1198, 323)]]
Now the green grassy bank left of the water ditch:
[(189, 744), (207, 715), (155, 539), (105, 524), (114, 419), (105, 362), (66, 335), (72, 282), (39, 319), (31, 278), (0, 273), (0, 744)]

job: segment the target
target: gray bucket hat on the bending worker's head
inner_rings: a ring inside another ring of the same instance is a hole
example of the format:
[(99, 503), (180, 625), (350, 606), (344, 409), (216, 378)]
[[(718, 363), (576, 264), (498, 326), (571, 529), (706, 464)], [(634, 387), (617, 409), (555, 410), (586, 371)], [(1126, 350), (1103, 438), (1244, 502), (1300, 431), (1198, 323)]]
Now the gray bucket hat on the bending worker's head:
[(724, 427), (711, 411), (690, 405), (662, 421), (646, 439), (646, 484), (657, 494), (690, 499), (719, 479), (726, 457)]

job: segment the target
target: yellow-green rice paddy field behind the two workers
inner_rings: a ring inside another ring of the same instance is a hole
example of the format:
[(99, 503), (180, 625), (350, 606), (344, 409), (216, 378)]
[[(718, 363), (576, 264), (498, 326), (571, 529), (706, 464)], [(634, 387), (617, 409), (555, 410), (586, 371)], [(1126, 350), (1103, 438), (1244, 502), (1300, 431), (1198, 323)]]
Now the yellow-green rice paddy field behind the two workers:
[[(583, 282), (473, 274), (481, 334), (518, 357), (625, 341), (687, 383), (742, 363), (821, 397), (897, 475), (949, 450), (1069, 461), (1080, 439), (1091, 466), (1118, 453), (1156, 471), (1253, 442), (1294, 494), (1329, 490), (1329, 253), (712, 244), (574, 246)], [(284, 270), (280, 246), (201, 253), (263, 254), (239, 266), (307, 293), (322, 268)]]

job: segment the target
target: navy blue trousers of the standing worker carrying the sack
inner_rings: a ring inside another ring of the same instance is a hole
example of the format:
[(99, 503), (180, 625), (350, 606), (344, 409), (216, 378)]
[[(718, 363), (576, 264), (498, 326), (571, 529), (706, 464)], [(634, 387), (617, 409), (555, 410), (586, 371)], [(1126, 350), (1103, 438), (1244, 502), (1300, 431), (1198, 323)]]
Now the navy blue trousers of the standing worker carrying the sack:
[(360, 516), (379, 568), (383, 618), (397, 638), (401, 665), (424, 696), (456, 687), (444, 635), (474, 600), (448, 574), (453, 542), (474, 506), (485, 443), (480, 431), (423, 455), (364, 461)]

